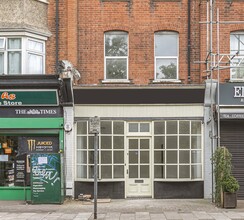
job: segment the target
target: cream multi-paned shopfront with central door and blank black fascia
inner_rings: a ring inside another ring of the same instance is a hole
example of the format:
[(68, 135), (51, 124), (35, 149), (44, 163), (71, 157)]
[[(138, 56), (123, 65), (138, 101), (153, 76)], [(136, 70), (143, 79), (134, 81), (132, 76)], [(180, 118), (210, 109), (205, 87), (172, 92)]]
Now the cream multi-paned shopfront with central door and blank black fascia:
[(203, 198), (204, 88), (77, 89), (74, 94), (75, 197), (93, 194), (88, 119), (98, 116), (98, 197)]

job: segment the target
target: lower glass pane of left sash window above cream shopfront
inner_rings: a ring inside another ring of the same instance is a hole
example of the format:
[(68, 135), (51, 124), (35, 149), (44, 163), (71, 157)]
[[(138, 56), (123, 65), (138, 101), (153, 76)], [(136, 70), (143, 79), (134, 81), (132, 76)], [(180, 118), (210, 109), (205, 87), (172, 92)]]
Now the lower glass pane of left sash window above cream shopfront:
[(107, 58), (106, 79), (127, 79), (127, 59)]

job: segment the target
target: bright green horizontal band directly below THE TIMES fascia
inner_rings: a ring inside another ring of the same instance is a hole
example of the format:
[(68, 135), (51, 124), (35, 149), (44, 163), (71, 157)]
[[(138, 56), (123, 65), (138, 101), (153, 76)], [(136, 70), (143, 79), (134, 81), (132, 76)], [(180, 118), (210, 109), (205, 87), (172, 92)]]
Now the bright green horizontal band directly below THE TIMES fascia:
[(1, 128), (63, 128), (63, 118), (0, 118)]

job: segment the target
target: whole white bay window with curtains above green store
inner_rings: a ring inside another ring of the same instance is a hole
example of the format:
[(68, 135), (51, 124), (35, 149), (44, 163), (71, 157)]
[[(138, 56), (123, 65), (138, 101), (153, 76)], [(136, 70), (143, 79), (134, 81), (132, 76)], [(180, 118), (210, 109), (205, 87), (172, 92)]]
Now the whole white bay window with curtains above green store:
[(0, 74), (43, 74), (44, 41), (27, 37), (0, 37)]

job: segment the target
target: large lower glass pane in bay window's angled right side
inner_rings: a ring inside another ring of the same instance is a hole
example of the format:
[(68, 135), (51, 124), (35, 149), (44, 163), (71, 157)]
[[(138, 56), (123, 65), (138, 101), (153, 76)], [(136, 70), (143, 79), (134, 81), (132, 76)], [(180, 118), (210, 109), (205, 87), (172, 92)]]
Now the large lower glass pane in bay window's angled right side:
[(43, 56), (28, 54), (28, 73), (43, 74)]

